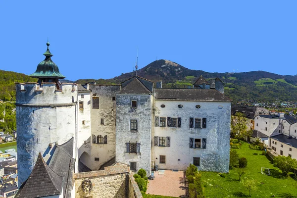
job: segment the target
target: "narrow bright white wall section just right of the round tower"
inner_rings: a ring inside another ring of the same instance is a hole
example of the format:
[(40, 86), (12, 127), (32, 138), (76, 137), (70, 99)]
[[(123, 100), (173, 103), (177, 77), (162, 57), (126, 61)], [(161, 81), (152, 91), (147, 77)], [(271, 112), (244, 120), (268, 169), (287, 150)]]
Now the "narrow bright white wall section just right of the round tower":
[[(82, 98), (84, 95), (84, 98)], [(78, 109), (78, 159), (80, 159), (86, 166), (90, 165), (89, 159), (82, 160), (80, 157), (83, 152), (91, 155), (91, 93), (79, 92), (78, 102), (83, 102), (83, 109)], [(79, 103), (78, 103), (79, 108)], [(85, 121), (85, 124), (83, 124)]]

